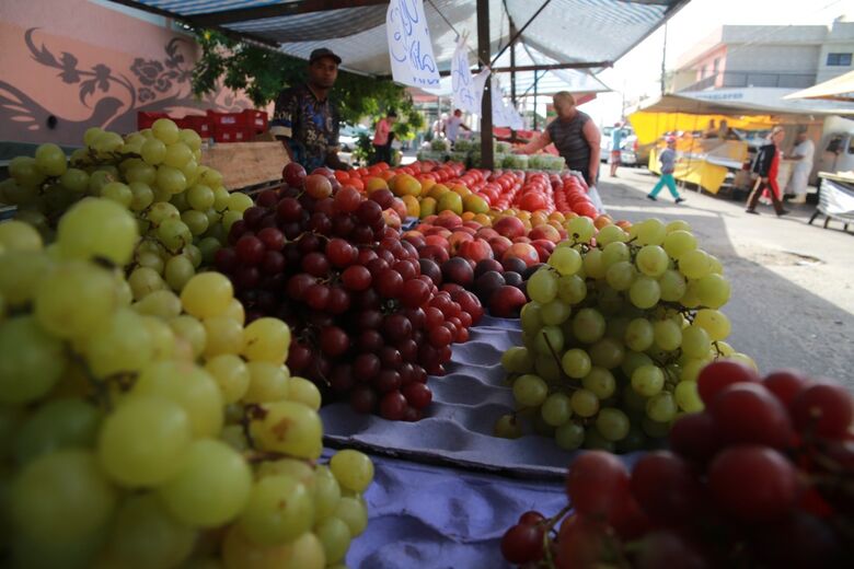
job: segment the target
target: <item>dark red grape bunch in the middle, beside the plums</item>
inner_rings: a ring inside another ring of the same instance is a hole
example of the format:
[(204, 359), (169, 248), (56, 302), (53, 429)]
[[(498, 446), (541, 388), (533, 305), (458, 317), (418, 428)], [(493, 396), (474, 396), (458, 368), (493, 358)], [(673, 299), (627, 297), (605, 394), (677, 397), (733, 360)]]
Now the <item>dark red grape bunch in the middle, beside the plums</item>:
[(216, 254), (250, 316), (295, 330), (289, 364), (360, 413), (418, 420), (451, 344), (483, 314), (474, 294), (439, 291), (418, 253), (386, 227), (391, 193), (365, 199), (323, 171), (286, 167), (286, 187), (262, 193)]

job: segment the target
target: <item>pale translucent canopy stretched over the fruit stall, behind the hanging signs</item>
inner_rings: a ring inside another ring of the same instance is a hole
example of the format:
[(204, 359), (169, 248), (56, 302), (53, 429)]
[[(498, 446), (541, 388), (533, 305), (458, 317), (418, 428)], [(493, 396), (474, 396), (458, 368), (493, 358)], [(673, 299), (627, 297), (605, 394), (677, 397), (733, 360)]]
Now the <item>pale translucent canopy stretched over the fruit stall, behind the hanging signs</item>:
[[(193, 26), (239, 34), (302, 59), (308, 59), (318, 47), (328, 47), (342, 55), (344, 69), (371, 76), (391, 73), (385, 43), (388, 0), (114, 1)], [(497, 54), (508, 44), (512, 22), (523, 30), (519, 42), (536, 50), (544, 60), (561, 66), (605, 68), (689, 1), (489, 0), (491, 53)], [(476, 0), (425, 0), (424, 7), (438, 67), (448, 70), (457, 33), (475, 36)]]

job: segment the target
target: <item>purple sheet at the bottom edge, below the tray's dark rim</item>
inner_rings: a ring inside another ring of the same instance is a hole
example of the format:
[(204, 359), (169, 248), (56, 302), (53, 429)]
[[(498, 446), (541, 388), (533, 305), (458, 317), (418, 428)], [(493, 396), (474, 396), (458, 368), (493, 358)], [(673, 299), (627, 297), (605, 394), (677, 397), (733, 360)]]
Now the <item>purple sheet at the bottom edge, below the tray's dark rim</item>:
[(515, 480), (384, 457), (365, 493), (369, 522), (347, 553), (351, 569), (510, 567), (500, 539), (519, 515), (554, 515), (563, 484)]

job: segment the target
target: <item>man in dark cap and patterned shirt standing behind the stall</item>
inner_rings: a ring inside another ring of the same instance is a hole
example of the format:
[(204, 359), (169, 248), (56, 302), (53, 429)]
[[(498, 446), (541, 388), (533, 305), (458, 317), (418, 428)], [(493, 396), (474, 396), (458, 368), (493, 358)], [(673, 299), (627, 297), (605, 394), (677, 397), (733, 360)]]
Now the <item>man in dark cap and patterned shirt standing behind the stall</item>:
[(308, 82), (284, 90), (276, 100), (269, 131), (293, 162), (307, 171), (320, 166), (348, 170), (338, 158), (338, 108), (328, 100), (341, 58), (322, 47), (309, 57)]

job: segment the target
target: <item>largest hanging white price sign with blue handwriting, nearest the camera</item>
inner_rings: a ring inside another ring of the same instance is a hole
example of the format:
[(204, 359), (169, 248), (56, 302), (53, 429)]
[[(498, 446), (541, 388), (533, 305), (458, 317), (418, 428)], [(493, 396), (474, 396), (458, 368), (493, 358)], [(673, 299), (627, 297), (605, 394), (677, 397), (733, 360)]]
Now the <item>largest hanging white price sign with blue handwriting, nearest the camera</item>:
[(439, 85), (423, 0), (392, 0), (385, 12), (392, 78), (420, 88)]

